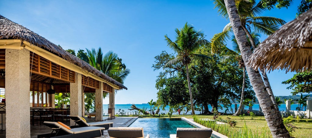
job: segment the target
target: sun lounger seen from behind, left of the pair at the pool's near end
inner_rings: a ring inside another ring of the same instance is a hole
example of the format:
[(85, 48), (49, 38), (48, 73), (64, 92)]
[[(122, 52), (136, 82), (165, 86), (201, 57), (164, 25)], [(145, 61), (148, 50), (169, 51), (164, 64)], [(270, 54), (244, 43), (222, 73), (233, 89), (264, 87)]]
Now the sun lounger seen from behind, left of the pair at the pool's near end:
[(107, 132), (110, 138), (149, 138), (143, 127), (110, 127)]

